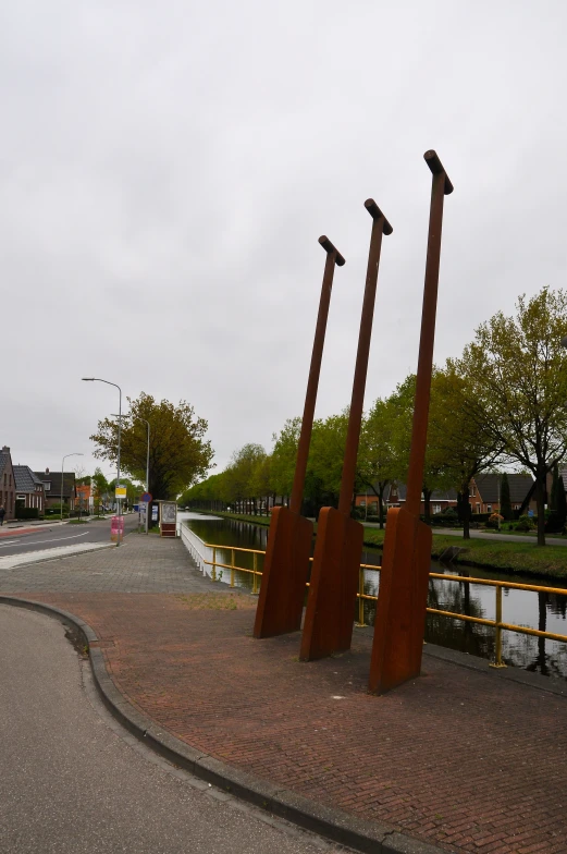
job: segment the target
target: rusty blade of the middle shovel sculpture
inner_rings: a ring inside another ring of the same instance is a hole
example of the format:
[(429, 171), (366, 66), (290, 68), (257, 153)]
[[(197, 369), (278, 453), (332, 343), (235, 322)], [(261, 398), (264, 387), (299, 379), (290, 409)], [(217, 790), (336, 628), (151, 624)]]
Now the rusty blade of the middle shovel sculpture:
[(301, 661), (350, 649), (365, 529), (334, 508), (319, 514)]

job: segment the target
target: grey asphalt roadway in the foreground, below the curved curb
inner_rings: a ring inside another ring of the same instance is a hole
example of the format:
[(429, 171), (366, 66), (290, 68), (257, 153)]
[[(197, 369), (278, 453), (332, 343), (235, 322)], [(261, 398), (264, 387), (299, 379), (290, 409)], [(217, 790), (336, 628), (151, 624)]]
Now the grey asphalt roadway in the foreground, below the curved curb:
[(0, 606), (2, 854), (344, 851), (174, 768), (102, 707), (49, 617)]

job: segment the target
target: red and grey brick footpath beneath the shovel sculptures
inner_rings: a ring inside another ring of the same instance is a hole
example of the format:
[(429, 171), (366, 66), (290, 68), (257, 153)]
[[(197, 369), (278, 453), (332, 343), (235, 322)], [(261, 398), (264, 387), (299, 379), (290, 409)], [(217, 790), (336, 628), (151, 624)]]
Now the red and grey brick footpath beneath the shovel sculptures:
[(337, 842), (567, 851), (563, 681), (428, 646), (420, 679), (371, 696), (370, 630), (301, 663), (297, 634), (252, 638), (255, 597), (153, 536), (0, 572), (0, 594), (74, 617), (107, 704), (147, 743)]

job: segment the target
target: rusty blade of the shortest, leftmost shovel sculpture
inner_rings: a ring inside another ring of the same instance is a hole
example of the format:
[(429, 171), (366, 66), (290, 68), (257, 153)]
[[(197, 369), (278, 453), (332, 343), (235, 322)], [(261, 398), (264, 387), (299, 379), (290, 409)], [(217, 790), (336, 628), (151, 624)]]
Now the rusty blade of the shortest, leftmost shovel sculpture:
[(272, 511), (255, 637), (274, 637), (301, 627), (313, 523), (286, 507)]

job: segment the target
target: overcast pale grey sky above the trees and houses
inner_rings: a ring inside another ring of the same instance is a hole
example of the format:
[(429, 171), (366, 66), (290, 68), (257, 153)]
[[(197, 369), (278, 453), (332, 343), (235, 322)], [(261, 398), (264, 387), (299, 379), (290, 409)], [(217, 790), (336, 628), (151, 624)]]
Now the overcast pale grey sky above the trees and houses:
[[(219, 468), (303, 411), (328, 234), (317, 415), (349, 402), (372, 196), (394, 227), (367, 406), (416, 369), (435, 148), (435, 361), (563, 288), (563, 0), (17, 0), (0, 11), (0, 446), (59, 468), (116, 412), (97, 376), (194, 404)], [(67, 466), (76, 463), (69, 460)], [(110, 472), (106, 464), (104, 471)]]

